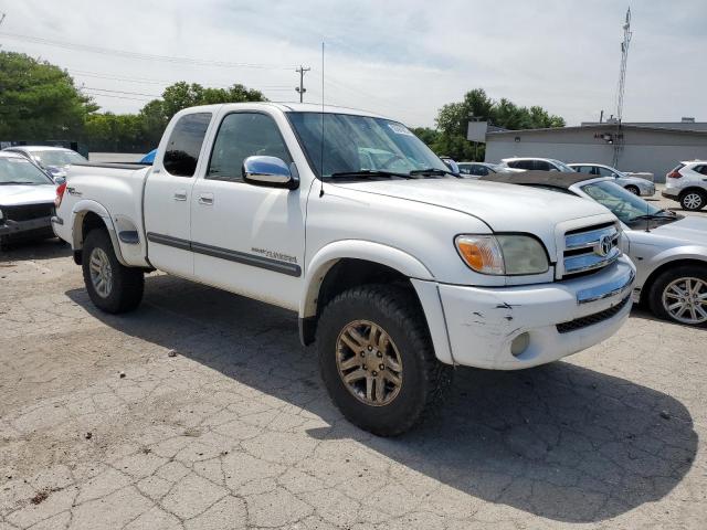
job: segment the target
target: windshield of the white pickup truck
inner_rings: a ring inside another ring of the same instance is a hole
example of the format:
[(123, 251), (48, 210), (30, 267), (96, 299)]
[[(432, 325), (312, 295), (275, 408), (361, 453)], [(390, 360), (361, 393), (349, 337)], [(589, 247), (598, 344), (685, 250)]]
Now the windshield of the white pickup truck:
[[(447, 167), (408, 128), (395, 121), (348, 114), (289, 113), (289, 121), (318, 177), (360, 171), (409, 176)], [(324, 168), (323, 168), (324, 163)]]

